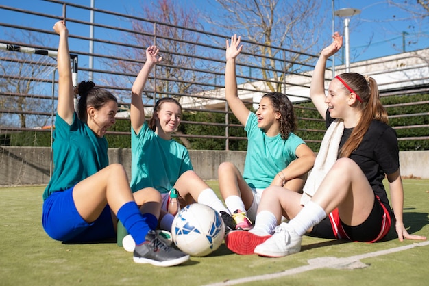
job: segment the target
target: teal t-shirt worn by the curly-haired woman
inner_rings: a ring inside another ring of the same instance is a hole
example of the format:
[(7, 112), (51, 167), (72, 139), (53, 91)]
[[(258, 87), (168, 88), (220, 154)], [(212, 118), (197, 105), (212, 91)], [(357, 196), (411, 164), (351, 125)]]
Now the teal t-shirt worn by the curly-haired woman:
[(306, 144), (294, 133), (283, 140), (280, 133), (269, 137), (258, 127), (258, 117), (249, 112), (245, 131), (247, 132), (247, 154), (243, 179), (252, 188), (265, 189), (275, 175), (297, 159), (296, 148)]

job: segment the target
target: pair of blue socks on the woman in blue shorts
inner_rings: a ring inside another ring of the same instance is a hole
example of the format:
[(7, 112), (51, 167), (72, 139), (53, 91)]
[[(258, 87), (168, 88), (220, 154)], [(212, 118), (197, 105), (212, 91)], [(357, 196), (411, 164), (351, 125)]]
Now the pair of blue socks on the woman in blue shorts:
[[(136, 245), (143, 244), (145, 237), (151, 229), (155, 229), (158, 224), (157, 218), (151, 213), (140, 213), (136, 202), (125, 203), (117, 213), (118, 219), (136, 242)], [(155, 225), (155, 227), (152, 227)]]

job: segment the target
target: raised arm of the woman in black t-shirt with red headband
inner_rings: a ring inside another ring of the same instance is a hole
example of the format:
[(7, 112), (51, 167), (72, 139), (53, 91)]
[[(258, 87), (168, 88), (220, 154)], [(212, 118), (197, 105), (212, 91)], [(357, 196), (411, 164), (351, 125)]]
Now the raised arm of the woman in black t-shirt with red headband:
[(338, 32), (335, 32), (334, 41), (328, 47), (323, 49), (320, 53), (319, 60), (315, 66), (315, 70), (312, 74), (311, 85), (310, 85), (310, 98), (312, 103), (314, 103), (317, 111), (323, 117), (326, 116), (326, 109), (328, 105), (325, 103), (326, 94), (325, 94), (325, 69), (326, 69), (326, 60), (331, 55), (334, 55), (341, 46), (343, 45), (343, 36), (340, 36)]

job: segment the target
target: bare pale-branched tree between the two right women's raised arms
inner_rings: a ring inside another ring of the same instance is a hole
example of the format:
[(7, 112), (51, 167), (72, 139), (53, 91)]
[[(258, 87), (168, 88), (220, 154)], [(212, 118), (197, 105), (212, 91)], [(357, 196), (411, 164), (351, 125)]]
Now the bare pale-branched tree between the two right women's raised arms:
[(314, 53), (315, 47), (320, 47), (319, 35), (326, 21), (321, 1), (216, 1), (224, 13), (219, 18), (209, 15), (210, 23), (247, 41), (243, 52), (247, 59), (243, 57), (241, 62), (259, 62), (260, 73), (271, 91), (281, 90), (285, 73), (304, 71), (303, 63), (314, 62), (305, 53)]

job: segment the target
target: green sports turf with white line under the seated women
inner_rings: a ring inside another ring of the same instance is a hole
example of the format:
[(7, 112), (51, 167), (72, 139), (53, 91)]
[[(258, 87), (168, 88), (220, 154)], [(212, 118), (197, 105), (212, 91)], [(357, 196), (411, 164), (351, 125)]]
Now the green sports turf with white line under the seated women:
[[(429, 242), (400, 242), (394, 231), (376, 244), (304, 237), (301, 252), (278, 259), (222, 244), (183, 265), (140, 265), (116, 242), (50, 239), (41, 226), (43, 189), (0, 188), (0, 285), (428, 285)], [(408, 232), (429, 237), (429, 179), (404, 179), (404, 189)]]

